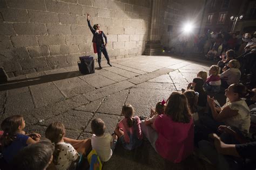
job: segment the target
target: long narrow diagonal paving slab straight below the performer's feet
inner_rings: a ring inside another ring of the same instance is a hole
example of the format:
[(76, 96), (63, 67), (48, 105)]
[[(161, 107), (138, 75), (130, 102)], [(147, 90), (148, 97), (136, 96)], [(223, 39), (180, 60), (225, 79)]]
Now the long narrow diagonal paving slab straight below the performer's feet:
[(125, 80), (125, 81), (111, 84), (110, 86), (106, 86), (106, 87), (103, 87), (103, 88), (100, 88), (100, 89), (97, 89), (94, 91), (90, 91), (89, 93), (86, 93), (85, 95), (90, 101), (94, 101), (99, 98), (105, 97), (107, 95), (116, 93), (118, 91), (130, 88), (132, 86), (134, 86), (133, 83), (130, 83), (129, 81)]

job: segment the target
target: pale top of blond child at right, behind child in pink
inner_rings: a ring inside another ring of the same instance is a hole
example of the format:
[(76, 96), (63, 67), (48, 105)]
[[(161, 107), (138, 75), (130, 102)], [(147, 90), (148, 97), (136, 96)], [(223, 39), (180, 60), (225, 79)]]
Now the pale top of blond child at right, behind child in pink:
[(226, 79), (227, 84), (238, 83), (241, 78), (241, 72), (238, 68), (227, 69), (226, 72), (220, 74), (221, 79)]

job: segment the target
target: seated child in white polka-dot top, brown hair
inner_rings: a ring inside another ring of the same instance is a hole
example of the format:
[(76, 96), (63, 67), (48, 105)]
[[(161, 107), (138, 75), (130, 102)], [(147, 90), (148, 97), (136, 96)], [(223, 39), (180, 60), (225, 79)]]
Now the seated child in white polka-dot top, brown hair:
[(45, 137), (55, 144), (53, 164), (56, 169), (69, 169), (79, 161), (78, 152), (85, 154), (91, 147), (90, 139), (75, 140), (66, 138), (65, 134), (65, 126), (60, 122), (51, 123), (45, 131)]

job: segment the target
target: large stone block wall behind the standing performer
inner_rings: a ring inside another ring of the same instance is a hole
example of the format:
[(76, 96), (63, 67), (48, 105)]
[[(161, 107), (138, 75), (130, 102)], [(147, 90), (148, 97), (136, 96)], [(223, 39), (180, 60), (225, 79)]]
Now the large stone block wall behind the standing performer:
[(111, 59), (141, 55), (150, 10), (150, 0), (0, 0), (0, 67), (12, 77), (97, 58), (87, 12), (106, 34)]

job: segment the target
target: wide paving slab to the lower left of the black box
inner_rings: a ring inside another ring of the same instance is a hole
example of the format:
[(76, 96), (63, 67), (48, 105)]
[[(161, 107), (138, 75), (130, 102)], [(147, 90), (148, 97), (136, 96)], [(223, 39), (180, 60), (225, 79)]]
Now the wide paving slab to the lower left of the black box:
[(88, 91), (95, 90), (90, 84), (80, 79), (79, 77), (73, 77), (70, 79), (54, 81), (56, 86), (59, 88), (62, 93), (70, 98), (77, 94), (83, 94)]

